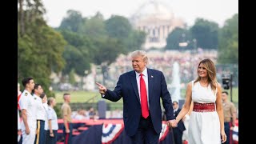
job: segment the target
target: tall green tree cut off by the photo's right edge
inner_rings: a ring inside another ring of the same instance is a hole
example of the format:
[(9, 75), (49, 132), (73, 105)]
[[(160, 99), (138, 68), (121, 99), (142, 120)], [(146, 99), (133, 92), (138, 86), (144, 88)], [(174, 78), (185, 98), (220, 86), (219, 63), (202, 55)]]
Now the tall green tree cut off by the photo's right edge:
[(227, 19), (220, 30), (218, 63), (238, 64), (238, 14)]

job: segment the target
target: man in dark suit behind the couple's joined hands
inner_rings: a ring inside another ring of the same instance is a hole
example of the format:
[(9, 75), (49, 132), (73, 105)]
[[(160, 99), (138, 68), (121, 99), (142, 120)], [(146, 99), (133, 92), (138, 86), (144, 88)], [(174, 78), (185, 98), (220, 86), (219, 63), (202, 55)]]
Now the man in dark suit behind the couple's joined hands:
[[(173, 102), (173, 107), (174, 107), (174, 117), (176, 118), (178, 113), (182, 110), (178, 108), (178, 102), (174, 101)], [(183, 121), (179, 121), (177, 127), (173, 128), (174, 130), (174, 142), (175, 144), (182, 144), (182, 135), (183, 131), (186, 130)]]

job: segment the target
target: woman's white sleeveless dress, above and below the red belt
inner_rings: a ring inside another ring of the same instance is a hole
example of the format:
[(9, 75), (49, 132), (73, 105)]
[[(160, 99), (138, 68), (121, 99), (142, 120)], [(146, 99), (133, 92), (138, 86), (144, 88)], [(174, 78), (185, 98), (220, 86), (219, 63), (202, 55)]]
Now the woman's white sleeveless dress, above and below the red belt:
[[(210, 85), (203, 87), (192, 81), (192, 101), (210, 103), (216, 101), (217, 89), (214, 93)], [(215, 105), (216, 110), (216, 105)], [(190, 114), (188, 128), (189, 144), (221, 144), (220, 122), (217, 111), (196, 112)]]

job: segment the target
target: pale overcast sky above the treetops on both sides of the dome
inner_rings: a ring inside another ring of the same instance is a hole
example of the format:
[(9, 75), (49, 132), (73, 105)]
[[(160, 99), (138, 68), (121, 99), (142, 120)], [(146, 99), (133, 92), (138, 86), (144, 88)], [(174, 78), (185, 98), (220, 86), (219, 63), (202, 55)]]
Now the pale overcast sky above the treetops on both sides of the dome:
[[(97, 11), (104, 18), (111, 14), (130, 18), (145, 2), (152, 0), (42, 0), (46, 8), (46, 22), (58, 27), (67, 10), (78, 10), (82, 17), (94, 16)], [(223, 26), (227, 18), (238, 13), (238, 0), (154, 0), (170, 7), (175, 18), (182, 18), (188, 26), (194, 25), (195, 18), (206, 18)]]

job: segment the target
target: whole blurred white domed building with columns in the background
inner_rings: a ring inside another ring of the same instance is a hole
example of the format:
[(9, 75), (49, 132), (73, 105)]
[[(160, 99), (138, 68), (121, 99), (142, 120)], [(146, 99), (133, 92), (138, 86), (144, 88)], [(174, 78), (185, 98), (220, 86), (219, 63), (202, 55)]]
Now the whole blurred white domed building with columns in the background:
[(162, 2), (151, 0), (145, 2), (130, 17), (131, 24), (146, 33), (146, 42), (142, 48), (162, 49), (166, 46), (166, 38), (175, 27), (184, 27), (179, 18), (174, 18), (172, 10)]

